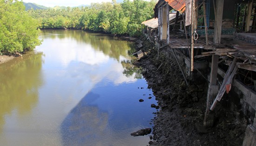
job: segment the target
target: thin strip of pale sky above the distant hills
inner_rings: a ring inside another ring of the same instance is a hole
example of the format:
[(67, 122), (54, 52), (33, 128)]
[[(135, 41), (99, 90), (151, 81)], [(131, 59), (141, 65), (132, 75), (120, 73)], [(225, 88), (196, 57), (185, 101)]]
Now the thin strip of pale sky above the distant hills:
[(23, 2), (36, 3), (38, 5), (54, 7), (54, 6), (80, 6), (90, 5), (91, 3), (111, 2), (112, 0), (23, 0)]

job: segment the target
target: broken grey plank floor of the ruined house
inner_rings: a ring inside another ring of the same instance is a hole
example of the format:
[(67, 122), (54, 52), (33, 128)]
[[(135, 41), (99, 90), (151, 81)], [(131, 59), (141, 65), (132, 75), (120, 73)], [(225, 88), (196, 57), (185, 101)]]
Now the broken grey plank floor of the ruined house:
[[(256, 40), (256, 33), (245, 33), (239, 35), (244, 36), (243, 38)], [(219, 55), (228, 60), (228, 57), (236, 57), (238, 58), (238, 64), (243, 63), (245, 66), (249, 67), (245, 69), (256, 71), (256, 44), (251, 44), (244, 40), (245, 39), (239, 40), (238, 37), (234, 35), (227, 38), (221, 38), (221, 44), (215, 44), (213, 43), (213, 38), (209, 38), (209, 45), (206, 45), (205, 38), (199, 38), (194, 42), (194, 48), (202, 49), (202, 51), (201, 53), (194, 52), (195, 58)], [(187, 40), (184, 37), (171, 37), (169, 46), (172, 49), (188, 49), (190, 48), (190, 42), (190, 39)]]

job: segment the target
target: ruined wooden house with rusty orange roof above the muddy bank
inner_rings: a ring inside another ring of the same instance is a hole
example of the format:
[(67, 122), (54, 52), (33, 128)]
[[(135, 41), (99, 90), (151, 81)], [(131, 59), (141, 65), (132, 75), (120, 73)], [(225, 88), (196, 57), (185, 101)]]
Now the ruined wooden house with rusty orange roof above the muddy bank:
[[(158, 49), (168, 46), (177, 63), (186, 64), (181, 68), (187, 73), (183, 75), (185, 80), (193, 76), (192, 72), (200, 73), (199, 59), (201, 62), (211, 60), (205, 66), (210, 69), (209, 78), (201, 74), (209, 82), (204, 124), (229, 85), (242, 93), (239, 99), (242, 106), (255, 113), (256, 0), (159, 0), (154, 11), (158, 18), (158, 36), (165, 44)], [(170, 24), (170, 13), (174, 11), (176, 17)], [(177, 33), (173, 37), (175, 28)], [(252, 86), (235, 79), (237, 73), (245, 76)], [(222, 76), (221, 82), (217, 82), (217, 76)], [(256, 118), (247, 128), (246, 134), (250, 136), (245, 137), (244, 146), (254, 145), (251, 141), (256, 141), (255, 129)]]

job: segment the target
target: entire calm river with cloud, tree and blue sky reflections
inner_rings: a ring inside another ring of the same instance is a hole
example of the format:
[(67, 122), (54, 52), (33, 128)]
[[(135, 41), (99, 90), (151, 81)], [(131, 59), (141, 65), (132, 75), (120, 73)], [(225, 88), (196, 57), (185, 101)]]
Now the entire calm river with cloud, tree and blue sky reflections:
[(130, 135), (152, 127), (156, 112), (131, 43), (80, 30), (43, 30), (40, 39), (0, 64), (0, 146), (148, 144), (149, 135)]

